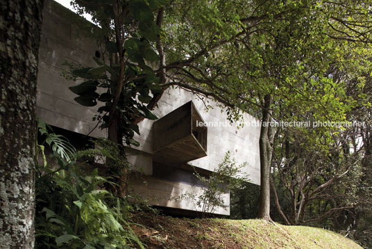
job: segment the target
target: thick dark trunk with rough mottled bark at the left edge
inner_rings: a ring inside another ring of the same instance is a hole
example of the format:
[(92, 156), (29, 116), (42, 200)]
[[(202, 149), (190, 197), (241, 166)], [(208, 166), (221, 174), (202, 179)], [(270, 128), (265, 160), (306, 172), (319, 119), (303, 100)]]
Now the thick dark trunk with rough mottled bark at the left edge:
[(1, 3), (0, 248), (33, 248), (37, 58), (42, 0)]

